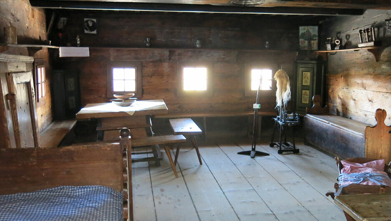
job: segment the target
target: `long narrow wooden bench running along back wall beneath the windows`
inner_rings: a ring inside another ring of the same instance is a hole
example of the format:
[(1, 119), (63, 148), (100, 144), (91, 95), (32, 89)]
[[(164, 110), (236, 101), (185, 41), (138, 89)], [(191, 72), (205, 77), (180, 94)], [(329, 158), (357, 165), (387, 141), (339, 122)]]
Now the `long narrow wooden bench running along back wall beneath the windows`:
[[(259, 132), (261, 132), (262, 116), (277, 116), (276, 111), (258, 111), (258, 115), (261, 116), (258, 120), (259, 122)], [(249, 127), (248, 133), (251, 134), (253, 131), (253, 116), (254, 111), (219, 111), (219, 112), (171, 112), (169, 114), (156, 114), (153, 115), (153, 118), (203, 118), (203, 134), (206, 137), (206, 118), (215, 118), (215, 117), (239, 117), (239, 116), (248, 116), (249, 117)]]

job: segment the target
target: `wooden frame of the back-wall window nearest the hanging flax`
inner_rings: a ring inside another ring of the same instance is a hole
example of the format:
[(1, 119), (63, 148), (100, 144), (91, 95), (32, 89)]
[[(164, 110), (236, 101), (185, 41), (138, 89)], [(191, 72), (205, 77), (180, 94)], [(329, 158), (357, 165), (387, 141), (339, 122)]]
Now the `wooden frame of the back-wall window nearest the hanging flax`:
[(251, 90), (251, 70), (252, 69), (271, 69), (272, 79), (271, 79), (271, 90), (260, 90), (259, 93), (266, 96), (271, 96), (275, 94), (277, 86), (276, 82), (273, 80), (274, 74), (277, 71), (277, 65), (274, 63), (250, 63), (246, 64), (246, 89), (245, 96), (256, 96), (256, 91)]

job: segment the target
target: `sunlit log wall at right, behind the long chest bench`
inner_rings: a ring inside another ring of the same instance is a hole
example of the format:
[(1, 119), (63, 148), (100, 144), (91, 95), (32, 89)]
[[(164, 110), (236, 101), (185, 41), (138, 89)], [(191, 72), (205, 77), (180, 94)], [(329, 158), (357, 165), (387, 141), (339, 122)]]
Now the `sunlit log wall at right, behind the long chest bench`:
[[(361, 16), (334, 17), (323, 23), (321, 43), (327, 37), (341, 33), (342, 45), (350, 35), (348, 48), (357, 47), (360, 29), (375, 27), (383, 45), (390, 45), (384, 21), (391, 17), (391, 10), (367, 10)], [(364, 37), (365, 40), (365, 37)], [(325, 50), (323, 45), (322, 50)], [(391, 124), (391, 47), (384, 47), (380, 60), (366, 50), (337, 52), (328, 55), (328, 106), (332, 114), (374, 125), (375, 110), (385, 109), (386, 124)]]

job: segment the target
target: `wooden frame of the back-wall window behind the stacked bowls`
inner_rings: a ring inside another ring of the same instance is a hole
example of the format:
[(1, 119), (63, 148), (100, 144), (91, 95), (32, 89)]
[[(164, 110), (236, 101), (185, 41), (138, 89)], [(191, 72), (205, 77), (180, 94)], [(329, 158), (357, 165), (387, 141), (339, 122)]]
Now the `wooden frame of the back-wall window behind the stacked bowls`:
[[(136, 91), (113, 91), (113, 67), (136, 69)], [(109, 62), (107, 64), (107, 98), (113, 99), (113, 94), (135, 93), (134, 98), (142, 97), (142, 62)]]

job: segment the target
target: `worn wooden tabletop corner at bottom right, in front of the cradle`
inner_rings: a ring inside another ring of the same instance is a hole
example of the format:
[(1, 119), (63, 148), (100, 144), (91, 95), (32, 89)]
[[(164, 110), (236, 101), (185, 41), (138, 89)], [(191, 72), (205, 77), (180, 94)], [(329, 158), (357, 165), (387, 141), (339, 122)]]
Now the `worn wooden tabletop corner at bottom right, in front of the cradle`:
[(340, 195), (334, 202), (351, 220), (391, 221), (391, 193)]

